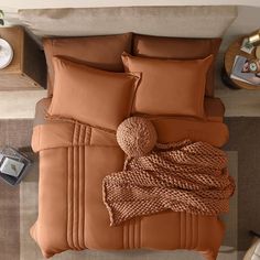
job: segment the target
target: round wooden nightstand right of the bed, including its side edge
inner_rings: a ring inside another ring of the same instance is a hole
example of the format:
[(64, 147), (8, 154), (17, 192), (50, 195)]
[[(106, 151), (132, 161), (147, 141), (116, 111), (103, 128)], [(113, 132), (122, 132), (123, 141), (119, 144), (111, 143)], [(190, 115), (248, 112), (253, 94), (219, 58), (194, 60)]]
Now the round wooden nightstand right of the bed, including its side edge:
[(227, 52), (225, 54), (225, 61), (224, 61), (224, 69), (223, 69), (223, 75), (221, 75), (223, 82), (228, 87), (234, 88), (234, 89), (246, 88), (246, 89), (259, 89), (260, 90), (260, 87), (258, 87), (258, 86), (253, 86), (253, 85), (250, 85), (250, 84), (247, 84), (247, 83), (243, 83), (243, 82), (230, 78), (230, 74), (231, 74), (231, 71), (232, 71), (232, 65), (234, 65), (236, 55), (245, 56), (248, 59), (256, 59), (256, 55), (254, 55), (256, 48), (252, 51), (251, 54), (248, 54), (248, 53), (242, 52), (240, 50), (241, 44), (242, 44), (242, 40), (245, 37), (246, 37), (246, 35), (242, 36), (242, 37), (237, 39), (228, 47), (228, 50), (227, 50)]

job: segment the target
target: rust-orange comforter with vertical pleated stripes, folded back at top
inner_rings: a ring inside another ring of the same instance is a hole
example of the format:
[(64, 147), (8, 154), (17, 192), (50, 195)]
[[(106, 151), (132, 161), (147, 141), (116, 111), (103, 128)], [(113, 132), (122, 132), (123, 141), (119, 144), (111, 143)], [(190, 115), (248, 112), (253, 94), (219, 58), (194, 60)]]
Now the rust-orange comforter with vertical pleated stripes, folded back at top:
[[(221, 120), (158, 118), (153, 123), (162, 143), (189, 138), (221, 147), (228, 140)], [(34, 127), (32, 147), (40, 153), (40, 194), (31, 235), (46, 258), (68, 249), (145, 248), (192, 249), (216, 259), (224, 225), (215, 216), (164, 212), (110, 227), (102, 180), (124, 162), (113, 132), (50, 120)]]

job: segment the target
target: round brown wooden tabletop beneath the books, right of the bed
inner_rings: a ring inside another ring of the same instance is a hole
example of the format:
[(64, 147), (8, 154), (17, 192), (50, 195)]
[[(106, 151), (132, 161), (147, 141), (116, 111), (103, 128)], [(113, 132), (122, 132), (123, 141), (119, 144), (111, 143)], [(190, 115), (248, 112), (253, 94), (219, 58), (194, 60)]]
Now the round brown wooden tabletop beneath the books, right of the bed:
[[(242, 44), (242, 40), (246, 36), (239, 37), (234, 43), (231, 43), (225, 54), (225, 69), (226, 69), (229, 77), (230, 77), (230, 74), (232, 71), (232, 65), (234, 65), (234, 61), (235, 61), (236, 55), (241, 55), (241, 56), (245, 56), (249, 59), (256, 58), (256, 56), (254, 56), (256, 48), (252, 51), (251, 54), (248, 54), (248, 53), (240, 50), (241, 44)], [(258, 87), (258, 86), (253, 86), (251, 84), (247, 84), (247, 83), (234, 79), (234, 78), (230, 78), (230, 80), (232, 80), (239, 88), (259, 89), (260, 90), (260, 87)]]

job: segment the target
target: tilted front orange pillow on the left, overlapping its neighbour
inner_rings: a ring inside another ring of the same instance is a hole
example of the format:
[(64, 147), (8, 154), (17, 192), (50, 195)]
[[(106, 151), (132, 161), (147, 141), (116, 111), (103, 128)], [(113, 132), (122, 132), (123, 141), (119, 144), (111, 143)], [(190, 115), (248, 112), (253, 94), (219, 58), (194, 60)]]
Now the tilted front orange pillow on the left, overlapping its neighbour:
[(129, 117), (140, 74), (104, 72), (61, 57), (53, 65), (51, 116), (111, 130)]

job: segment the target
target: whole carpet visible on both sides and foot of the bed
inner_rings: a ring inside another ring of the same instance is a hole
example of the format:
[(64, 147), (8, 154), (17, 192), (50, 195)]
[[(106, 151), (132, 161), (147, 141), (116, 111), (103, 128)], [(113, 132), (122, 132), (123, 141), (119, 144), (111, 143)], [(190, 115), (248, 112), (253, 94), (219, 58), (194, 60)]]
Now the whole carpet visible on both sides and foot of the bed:
[[(23, 121), (23, 122), (22, 122)], [(260, 120), (259, 118), (227, 118), (230, 129), (230, 141), (225, 147), (229, 155), (229, 172), (237, 180), (238, 193), (230, 202), (230, 213), (224, 216), (227, 231), (223, 245), (246, 249), (250, 245), (248, 229), (258, 230), (260, 213), (254, 206), (258, 203), (260, 175)], [(17, 134), (19, 129), (19, 134)], [(0, 120), (0, 143), (19, 147), (30, 145), (32, 120)], [(6, 134), (6, 136), (4, 136)], [(26, 151), (31, 156), (30, 151)], [(29, 236), (29, 228), (37, 215), (37, 158), (26, 178), (18, 187), (0, 183), (0, 259), (42, 260), (36, 243)], [(257, 196), (258, 197), (257, 197)], [(224, 249), (221, 249), (224, 250)], [(219, 253), (218, 259), (241, 259), (241, 257)], [(188, 260), (202, 259), (196, 252), (172, 251), (68, 251), (54, 259), (57, 260)]]

